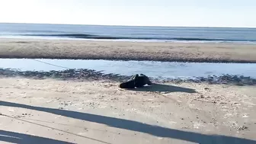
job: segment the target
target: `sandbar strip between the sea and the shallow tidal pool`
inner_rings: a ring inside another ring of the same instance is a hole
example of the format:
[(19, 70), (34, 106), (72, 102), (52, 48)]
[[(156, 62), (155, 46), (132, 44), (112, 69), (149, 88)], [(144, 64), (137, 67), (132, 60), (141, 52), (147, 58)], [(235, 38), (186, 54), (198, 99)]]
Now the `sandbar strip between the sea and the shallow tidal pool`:
[(256, 62), (256, 45), (0, 39), (0, 57)]

